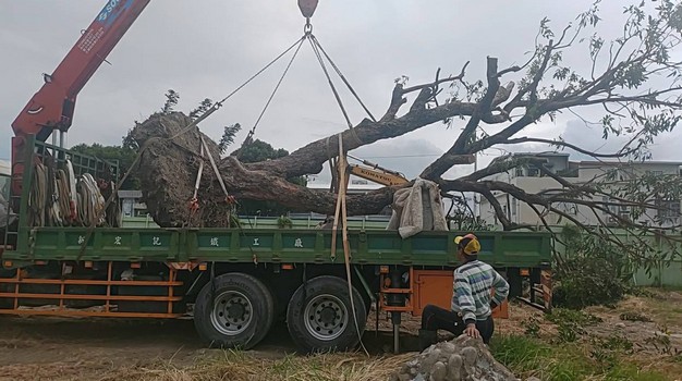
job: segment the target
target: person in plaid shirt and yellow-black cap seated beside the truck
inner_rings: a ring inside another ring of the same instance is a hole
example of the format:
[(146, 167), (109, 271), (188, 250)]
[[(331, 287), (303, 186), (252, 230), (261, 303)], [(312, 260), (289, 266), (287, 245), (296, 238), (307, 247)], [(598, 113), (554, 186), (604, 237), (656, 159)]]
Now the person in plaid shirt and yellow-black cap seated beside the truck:
[(509, 295), (509, 283), (490, 265), (478, 260), (480, 243), (474, 234), (454, 238), (456, 256), (462, 262), (454, 270), (452, 307), (450, 310), (427, 305), (422, 312), (419, 349), (438, 341), (437, 331), (446, 330), (459, 336), (462, 333), (482, 337), (488, 344), (495, 322), (492, 309)]

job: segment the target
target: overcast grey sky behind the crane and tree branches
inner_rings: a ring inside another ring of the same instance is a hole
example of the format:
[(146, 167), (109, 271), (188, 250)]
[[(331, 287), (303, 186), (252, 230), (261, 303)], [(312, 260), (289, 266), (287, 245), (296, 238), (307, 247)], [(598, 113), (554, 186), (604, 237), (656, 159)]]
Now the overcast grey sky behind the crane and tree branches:
[[(624, 2), (602, 2), (606, 34), (621, 29)], [(5, 126), (0, 128), (0, 158), (10, 156), (10, 124), (41, 86), (40, 74), (53, 71), (105, 3), (0, 2), (0, 120)], [(467, 78), (475, 81), (484, 74), (486, 56), (498, 57), (500, 66), (523, 63), (544, 16), (559, 28), (589, 4), (589, 0), (517, 0), (513, 5), (502, 1), (320, 0), (313, 25), (327, 52), (380, 116), (394, 78), (406, 75), (410, 84), (423, 83), (439, 66), (444, 74), (458, 73), (471, 60)], [(135, 120), (161, 107), (169, 88), (181, 94), (182, 110), (206, 97), (222, 98), (295, 41), (303, 23), (295, 0), (153, 0), (108, 57), (111, 65), (102, 64), (81, 91), (69, 145), (120, 144)], [(244, 88), (202, 130), (218, 139), (227, 124), (239, 122), (245, 131), (251, 128), (284, 64), (281, 61)], [(362, 109), (348, 93), (342, 96), (352, 121), (358, 122)], [(306, 45), (256, 137), (291, 151), (343, 128), (342, 114)], [(450, 147), (459, 131), (459, 126), (446, 130), (439, 123), (354, 153), (415, 176)], [(569, 135), (586, 148), (604, 145), (601, 131), (586, 127), (572, 115), (534, 125), (526, 134)], [(658, 144), (655, 159), (682, 159), (674, 140)], [(485, 153), (482, 164), (499, 151)]]

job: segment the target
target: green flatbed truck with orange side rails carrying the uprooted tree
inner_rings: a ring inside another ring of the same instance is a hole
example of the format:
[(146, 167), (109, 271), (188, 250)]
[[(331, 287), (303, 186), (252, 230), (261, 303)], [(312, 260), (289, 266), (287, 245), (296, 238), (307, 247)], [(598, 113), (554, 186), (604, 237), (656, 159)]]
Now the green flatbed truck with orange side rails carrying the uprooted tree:
[[(207, 345), (242, 348), (257, 345), (283, 319), (309, 352), (355, 347), (373, 306), (398, 328), (402, 314), (450, 305), (459, 265), (453, 238), (462, 232), (403, 239), (397, 231), (349, 230), (349, 287), (329, 230), (32, 226), (37, 163), (59, 168), (68, 159), (76, 176), (96, 179), (112, 165), (33, 137), (26, 143), (22, 193), (9, 195), (17, 223), (0, 248), (0, 315), (192, 317)], [(550, 306), (548, 234), (475, 233), (480, 259), (504, 274), (512, 298)], [(343, 253), (341, 239), (337, 245)], [(496, 316), (507, 317), (507, 307)]]

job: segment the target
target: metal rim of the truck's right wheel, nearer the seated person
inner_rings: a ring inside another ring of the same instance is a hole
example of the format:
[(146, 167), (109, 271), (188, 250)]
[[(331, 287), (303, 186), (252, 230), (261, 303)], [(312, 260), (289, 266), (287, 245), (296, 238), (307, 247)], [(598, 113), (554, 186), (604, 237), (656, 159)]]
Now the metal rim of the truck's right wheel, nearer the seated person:
[(349, 312), (338, 297), (318, 295), (306, 305), (304, 319), (305, 328), (310, 335), (321, 341), (331, 341), (345, 330)]

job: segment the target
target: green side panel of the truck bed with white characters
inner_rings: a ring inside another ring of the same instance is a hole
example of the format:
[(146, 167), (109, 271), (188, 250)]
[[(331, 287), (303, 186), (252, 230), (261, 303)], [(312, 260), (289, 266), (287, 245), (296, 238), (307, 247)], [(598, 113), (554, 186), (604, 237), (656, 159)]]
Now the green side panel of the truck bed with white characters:
[[(24, 231), (4, 260), (343, 262), (332, 234), (322, 230), (39, 228)], [(88, 234), (88, 232), (90, 234)], [(395, 231), (349, 231), (358, 265), (456, 266), (458, 232), (423, 232), (401, 238)], [(549, 267), (550, 236), (544, 233), (478, 232), (480, 259), (495, 267)], [(87, 239), (87, 245), (85, 241)]]

